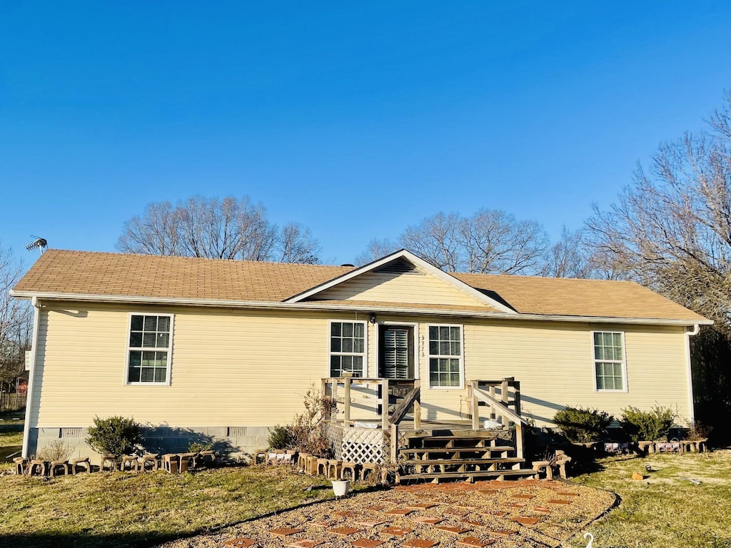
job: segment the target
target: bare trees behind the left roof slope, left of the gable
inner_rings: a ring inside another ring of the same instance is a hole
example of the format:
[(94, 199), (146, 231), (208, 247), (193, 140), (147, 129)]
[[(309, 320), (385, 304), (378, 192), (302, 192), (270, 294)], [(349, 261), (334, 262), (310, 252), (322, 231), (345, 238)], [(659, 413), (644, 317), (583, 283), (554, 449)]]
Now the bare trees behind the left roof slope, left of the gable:
[(280, 229), (249, 197), (148, 204), (141, 216), (126, 221), (117, 248), (133, 254), (319, 262), (319, 244), (308, 229), (298, 224)]

